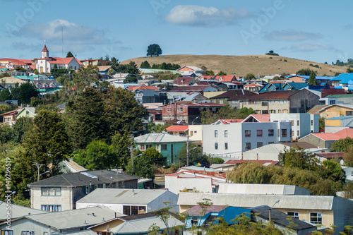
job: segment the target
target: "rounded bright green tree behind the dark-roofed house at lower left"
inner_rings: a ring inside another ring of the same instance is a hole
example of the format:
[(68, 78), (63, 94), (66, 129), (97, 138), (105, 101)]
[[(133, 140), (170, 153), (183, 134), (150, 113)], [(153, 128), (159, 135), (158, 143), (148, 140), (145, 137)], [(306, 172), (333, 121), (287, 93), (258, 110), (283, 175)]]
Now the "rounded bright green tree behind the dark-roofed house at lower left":
[(79, 150), (73, 160), (90, 171), (113, 169), (119, 166), (114, 147), (103, 140), (92, 140), (85, 150)]

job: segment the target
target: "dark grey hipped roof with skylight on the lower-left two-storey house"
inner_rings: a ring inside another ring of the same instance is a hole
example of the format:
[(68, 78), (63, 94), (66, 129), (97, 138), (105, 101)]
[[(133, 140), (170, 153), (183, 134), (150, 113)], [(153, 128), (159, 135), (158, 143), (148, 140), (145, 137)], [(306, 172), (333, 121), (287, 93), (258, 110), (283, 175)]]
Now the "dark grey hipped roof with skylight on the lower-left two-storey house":
[[(94, 178), (86, 175), (95, 176)], [(112, 177), (112, 179), (111, 179)], [(71, 174), (60, 174), (58, 176), (53, 176), (48, 179), (43, 179), (41, 181), (36, 181), (30, 183), (28, 186), (86, 186), (90, 183), (92, 185), (102, 184), (102, 183), (115, 183), (119, 181), (129, 181), (140, 179), (138, 176), (131, 176), (124, 173), (116, 173), (114, 171), (100, 170), (100, 171), (80, 171)], [(90, 182), (91, 181), (91, 182)]]

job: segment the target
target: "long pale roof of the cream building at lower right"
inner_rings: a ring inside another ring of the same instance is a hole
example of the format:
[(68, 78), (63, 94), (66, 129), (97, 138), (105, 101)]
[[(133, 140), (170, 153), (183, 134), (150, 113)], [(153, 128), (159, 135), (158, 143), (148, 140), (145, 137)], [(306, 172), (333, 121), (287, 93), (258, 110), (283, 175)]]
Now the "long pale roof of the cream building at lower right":
[[(232, 193), (179, 193), (178, 205), (197, 205), (203, 198), (212, 200), (213, 205), (234, 207), (256, 207), (274, 205), (274, 208), (332, 210), (334, 196), (325, 195), (255, 195)], [(276, 203), (280, 200), (279, 203)]]

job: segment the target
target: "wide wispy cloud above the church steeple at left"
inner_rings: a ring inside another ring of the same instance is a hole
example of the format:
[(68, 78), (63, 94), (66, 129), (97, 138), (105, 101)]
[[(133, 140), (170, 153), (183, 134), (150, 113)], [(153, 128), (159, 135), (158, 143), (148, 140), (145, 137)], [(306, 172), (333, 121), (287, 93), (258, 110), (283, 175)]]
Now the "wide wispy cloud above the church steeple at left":
[(61, 42), (61, 33), (64, 35), (65, 44), (104, 44), (107, 42), (102, 30), (61, 19), (47, 23), (28, 23), (16, 34), (17, 36)]

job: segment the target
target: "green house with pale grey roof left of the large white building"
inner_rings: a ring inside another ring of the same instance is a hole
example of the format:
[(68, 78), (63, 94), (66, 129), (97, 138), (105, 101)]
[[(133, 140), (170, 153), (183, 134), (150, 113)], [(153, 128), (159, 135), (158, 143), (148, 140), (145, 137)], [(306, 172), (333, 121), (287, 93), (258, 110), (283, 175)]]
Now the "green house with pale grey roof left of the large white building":
[(149, 133), (135, 138), (136, 148), (141, 151), (154, 147), (162, 153), (164, 164), (170, 166), (179, 162), (178, 153), (187, 138), (167, 133)]

